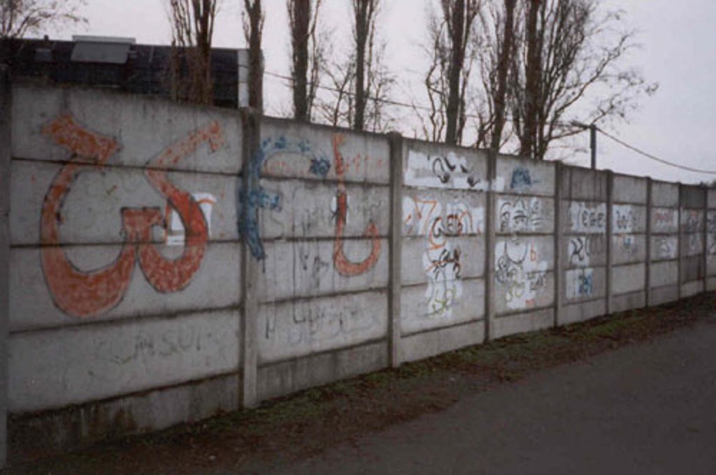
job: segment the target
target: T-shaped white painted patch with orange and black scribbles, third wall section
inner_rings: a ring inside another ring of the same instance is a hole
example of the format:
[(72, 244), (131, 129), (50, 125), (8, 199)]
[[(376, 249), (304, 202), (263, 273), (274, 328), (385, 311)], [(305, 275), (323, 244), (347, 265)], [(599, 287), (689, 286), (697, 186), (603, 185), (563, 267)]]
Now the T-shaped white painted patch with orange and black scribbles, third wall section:
[(409, 235), (425, 235), (422, 267), (427, 276), (426, 314), (450, 318), (463, 295), (460, 280), (462, 250), (450, 238), (480, 234), (485, 210), (463, 202), (440, 202), (405, 197), (403, 229)]

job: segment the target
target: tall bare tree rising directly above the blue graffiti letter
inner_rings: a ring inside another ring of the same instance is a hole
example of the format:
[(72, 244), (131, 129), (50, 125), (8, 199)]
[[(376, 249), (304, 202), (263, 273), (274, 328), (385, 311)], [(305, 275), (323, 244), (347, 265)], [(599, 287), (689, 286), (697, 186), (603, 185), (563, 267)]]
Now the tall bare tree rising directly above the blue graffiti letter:
[(294, 118), (310, 122), (319, 73), (326, 60), (326, 38), (317, 30), (321, 0), (286, 0), (286, 8), (291, 29)]

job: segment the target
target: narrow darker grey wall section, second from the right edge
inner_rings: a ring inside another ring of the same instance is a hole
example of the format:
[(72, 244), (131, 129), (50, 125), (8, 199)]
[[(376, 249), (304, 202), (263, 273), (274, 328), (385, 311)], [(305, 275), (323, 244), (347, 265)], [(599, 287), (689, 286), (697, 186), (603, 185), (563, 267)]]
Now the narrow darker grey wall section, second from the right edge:
[(689, 297), (704, 290), (706, 261), (705, 214), (706, 190), (682, 185), (681, 197), (681, 297)]

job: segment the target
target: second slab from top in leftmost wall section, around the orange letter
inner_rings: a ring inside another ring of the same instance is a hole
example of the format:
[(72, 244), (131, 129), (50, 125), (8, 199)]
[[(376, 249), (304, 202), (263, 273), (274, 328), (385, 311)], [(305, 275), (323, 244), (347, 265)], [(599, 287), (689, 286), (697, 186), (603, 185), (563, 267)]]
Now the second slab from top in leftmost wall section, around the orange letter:
[[(11, 185), (12, 245), (40, 243), (44, 200), (62, 165), (50, 162), (14, 161)], [(183, 246), (182, 217), (167, 197), (160, 195), (139, 168), (80, 167), (77, 179), (59, 207), (62, 244), (124, 243), (122, 210), (155, 207), (163, 222), (153, 227), (155, 242)], [(193, 196), (208, 225), (208, 240), (238, 240), (236, 177), (172, 172), (173, 184)]]

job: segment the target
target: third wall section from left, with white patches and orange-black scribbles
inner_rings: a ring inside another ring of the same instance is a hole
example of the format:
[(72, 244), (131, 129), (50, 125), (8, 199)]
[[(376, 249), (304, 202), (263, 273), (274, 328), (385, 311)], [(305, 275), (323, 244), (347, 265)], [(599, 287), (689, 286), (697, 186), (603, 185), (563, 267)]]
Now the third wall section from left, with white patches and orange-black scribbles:
[(400, 361), (481, 343), (484, 152), (406, 142), (402, 154)]

